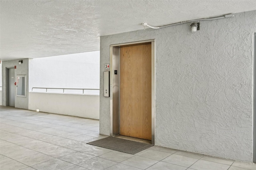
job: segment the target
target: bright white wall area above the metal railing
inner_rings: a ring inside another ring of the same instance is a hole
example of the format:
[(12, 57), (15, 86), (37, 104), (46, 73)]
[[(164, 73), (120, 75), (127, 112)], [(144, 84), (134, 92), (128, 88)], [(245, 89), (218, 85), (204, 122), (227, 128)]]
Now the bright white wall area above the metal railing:
[(29, 67), (29, 89), (99, 88), (100, 52), (34, 58)]

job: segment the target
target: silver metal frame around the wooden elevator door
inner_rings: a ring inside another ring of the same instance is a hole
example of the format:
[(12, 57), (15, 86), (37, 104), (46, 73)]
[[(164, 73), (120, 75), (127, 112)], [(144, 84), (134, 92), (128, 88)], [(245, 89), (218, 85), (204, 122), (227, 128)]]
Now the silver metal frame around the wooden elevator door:
[[(115, 44), (110, 46), (110, 136), (120, 133), (120, 46), (151, 42), (151, 128), (155, 144), (155, 40)], [(118, 70), (117, 75), (114, 70)]]

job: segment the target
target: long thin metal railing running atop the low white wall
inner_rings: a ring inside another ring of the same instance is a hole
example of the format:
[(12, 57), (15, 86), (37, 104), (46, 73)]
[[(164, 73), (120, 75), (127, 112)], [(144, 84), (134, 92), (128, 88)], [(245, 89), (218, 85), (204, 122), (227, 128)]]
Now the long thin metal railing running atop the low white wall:
[(42, 88), (42, 87), (33, 87), (32, 92), (100, 95), (100, 89), (94, 89), (94, 88)]

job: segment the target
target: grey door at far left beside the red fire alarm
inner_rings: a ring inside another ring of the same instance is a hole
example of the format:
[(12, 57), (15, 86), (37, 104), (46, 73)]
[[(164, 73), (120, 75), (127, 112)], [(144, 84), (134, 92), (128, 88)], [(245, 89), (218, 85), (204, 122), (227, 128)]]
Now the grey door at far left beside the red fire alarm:
[(14, 68), (9, 68), (8, 69), (8, 100), (9, 100), (9, 106), (13, 106), (13, 107), (15, 107), (15, 89), (16, 89), (14, 82), (15, 82)]

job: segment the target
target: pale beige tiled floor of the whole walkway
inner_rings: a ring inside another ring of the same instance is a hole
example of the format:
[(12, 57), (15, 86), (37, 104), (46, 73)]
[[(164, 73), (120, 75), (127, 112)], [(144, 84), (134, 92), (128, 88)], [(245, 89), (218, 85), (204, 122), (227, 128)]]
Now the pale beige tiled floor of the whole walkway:
[(256, 170), (256, 164), (160, 146), (132, 155), (86, 144), (107, 137), (98, 127), (98, 120), (0, 106), (0, 169)]

